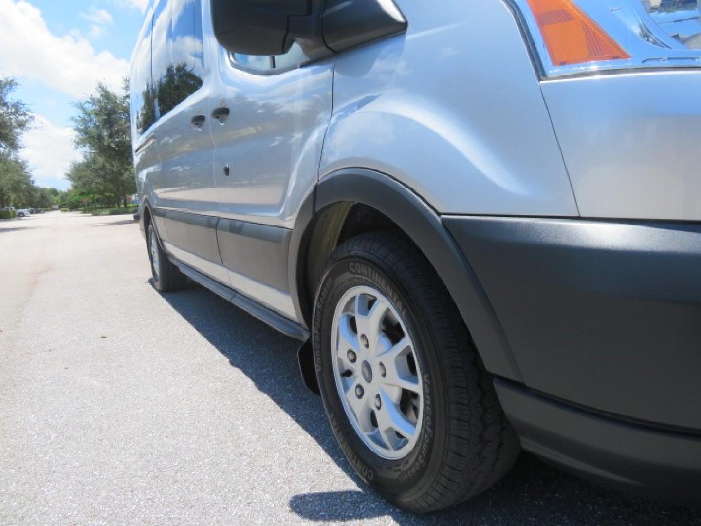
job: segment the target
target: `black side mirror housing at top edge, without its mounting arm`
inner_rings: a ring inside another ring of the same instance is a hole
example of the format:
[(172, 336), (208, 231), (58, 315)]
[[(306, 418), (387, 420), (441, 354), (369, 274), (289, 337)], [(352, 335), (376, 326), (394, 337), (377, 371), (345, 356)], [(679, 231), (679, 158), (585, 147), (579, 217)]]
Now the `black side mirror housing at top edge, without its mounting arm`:
[(212, 0), (215, 36), (243, 55), (284, 55), (296, 39), (321, 40), (320, 0)]

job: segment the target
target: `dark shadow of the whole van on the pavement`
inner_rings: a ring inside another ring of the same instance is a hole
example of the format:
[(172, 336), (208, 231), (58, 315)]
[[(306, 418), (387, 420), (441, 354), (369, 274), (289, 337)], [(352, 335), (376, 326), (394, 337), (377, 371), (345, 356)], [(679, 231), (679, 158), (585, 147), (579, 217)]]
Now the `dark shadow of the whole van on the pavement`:
[(477, 499), (440, 513), (405, 513), (365, 487), (343, 457), (323, 415), (320, 398), (301, 381), (296, 353), (299, 342), (194, 283), (163, 298), (363, 488), (292, 497), (290, 509), (304, 520), (341, 522), (390, 517), (407, 525), (701, 526), (701, 513), (697, 511), (602, 490), (529, 454), (522, 454), (511, 473)]

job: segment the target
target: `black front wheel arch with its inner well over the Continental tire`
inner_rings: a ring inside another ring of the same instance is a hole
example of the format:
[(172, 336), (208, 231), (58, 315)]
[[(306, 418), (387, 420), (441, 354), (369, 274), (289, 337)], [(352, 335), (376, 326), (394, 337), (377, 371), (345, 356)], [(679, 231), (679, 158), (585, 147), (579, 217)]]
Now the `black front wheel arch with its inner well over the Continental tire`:
[(400, 229), (426, 255), (463, 316), (487, 370), (521, 381), (496, 313), (440, 216), (403, 184), (374, 170), (344, 168), (331, 173), (301, 205), (288, 264), (299, 320), (311, 327), (315, 287), (336, 246), (349, 236), (390, 226)]

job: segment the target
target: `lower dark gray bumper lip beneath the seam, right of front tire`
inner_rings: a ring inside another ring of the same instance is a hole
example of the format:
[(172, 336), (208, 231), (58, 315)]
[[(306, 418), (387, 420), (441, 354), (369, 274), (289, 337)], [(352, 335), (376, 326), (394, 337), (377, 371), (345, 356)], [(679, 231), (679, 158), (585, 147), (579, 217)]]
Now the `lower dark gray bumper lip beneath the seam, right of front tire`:
[(699, 507), (701, 435), (592, 412), (502, 379), (495, 386), (524, 450), (614, 490)]

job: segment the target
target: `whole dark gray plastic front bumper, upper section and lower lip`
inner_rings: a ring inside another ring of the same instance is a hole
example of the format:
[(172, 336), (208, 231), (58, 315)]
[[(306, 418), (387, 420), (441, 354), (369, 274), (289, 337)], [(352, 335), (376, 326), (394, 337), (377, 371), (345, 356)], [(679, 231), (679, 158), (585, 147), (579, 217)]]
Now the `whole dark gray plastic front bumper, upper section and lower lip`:
[(522, 372), (497, 383), (524, 447), (627, 490), (698, 490), (701, 224), (443, 222)]

